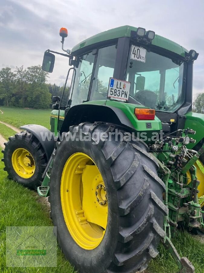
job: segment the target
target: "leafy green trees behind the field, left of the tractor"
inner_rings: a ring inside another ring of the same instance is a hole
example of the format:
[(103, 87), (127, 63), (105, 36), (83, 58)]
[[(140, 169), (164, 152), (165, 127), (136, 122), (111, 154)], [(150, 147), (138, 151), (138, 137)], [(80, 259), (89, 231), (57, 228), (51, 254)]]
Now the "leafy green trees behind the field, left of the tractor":
[[(41, 66), (0, 69), (0, 105), (22, 108), (50, 108), (52, 96), (61, 96), (63, 86), (47, 83), (48, 73)], [(62, 105), (66, 105), (69, 87)]]

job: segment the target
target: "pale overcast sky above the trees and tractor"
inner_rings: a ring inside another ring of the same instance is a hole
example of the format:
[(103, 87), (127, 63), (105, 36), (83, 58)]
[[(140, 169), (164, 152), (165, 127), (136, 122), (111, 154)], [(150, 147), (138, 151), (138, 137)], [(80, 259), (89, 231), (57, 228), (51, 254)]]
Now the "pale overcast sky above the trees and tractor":
[[(65, 48), (121, 25), (143, 27), (195, 49), (193, 92), (204, 92), (204, 0), (0, 0), (0, 69), (42, 63), (46, 49)], [(67, 60), (56, 56), (49, 82), (63, 85)]]

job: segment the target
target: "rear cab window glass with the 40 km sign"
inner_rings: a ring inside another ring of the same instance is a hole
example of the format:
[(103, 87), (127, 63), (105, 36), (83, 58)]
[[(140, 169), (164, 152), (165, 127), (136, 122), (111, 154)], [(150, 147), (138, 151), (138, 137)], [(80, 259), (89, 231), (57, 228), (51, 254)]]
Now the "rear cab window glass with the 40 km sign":
[(130, 96), (147, 107), (174, 112), (183, 103), (183, 63), (131, 45), (126, 80)]

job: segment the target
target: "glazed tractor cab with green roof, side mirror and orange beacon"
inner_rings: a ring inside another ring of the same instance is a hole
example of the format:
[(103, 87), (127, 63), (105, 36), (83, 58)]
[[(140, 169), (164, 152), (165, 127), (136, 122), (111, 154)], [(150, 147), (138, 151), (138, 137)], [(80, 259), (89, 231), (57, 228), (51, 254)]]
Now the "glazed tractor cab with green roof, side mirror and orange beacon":
[[(60, 36), (63, 46), (67, 36), (63, 28)], [(131, 26), (99, 33), (71, 51), (63, 50), (66, 54), (54, 53), (69, 57), (73, 78), (67, 105), (55, 103), (51, 117), (57, 115), (59, 106), (63, 116), (63, 110), (67, 113), (82, 103), (112, 105), (109, 101), (120, 101), (153, 109), (164, 133), (169, 133), (184, 123), (182, 116), (191, 110), (193, 61), (198, 57), (195, 50), (187, 51), (153, 31)], [(48, 72), (52, 72), (54, 64), (51, 52), (45, 52), (43, 62), (43, 69)], [(111, 78), (119, 80), (118, 86), (126, 89), (115, 86), (109, 90)], [(119, 91), (127, 91), (128, 98), (121, 97)]]

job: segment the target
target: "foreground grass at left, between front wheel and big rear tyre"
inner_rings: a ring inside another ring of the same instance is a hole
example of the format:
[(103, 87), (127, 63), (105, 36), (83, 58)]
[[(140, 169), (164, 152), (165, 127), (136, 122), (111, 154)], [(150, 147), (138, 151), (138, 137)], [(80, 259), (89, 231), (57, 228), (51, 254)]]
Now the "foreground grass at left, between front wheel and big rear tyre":
[[(0, 154), (0, 160), (2, 154)], [(39, 202), (36, 192), (28, 190), (6, 178), (4, 164), (0, 161), (0, 272), (68, 272), (73, 267), (65, 260), (60, 249), (57, 250), (56, 268), (7, 268), (6, 267), (6, 226), (52, 226), (48, 209)]]

